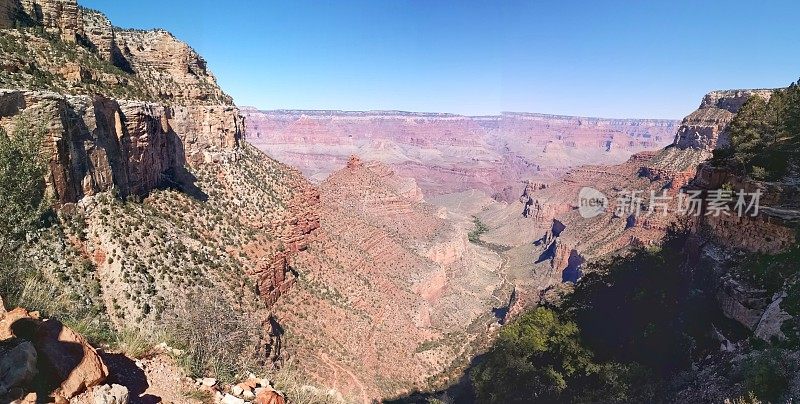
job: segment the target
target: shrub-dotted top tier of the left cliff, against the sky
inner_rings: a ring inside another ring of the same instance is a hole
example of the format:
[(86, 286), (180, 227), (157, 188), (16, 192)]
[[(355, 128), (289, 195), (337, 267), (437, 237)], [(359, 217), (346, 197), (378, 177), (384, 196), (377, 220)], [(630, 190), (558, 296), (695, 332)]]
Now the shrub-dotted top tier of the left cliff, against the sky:
[(0, 55), (9, 73), (2, 83), (6, 87), (171, 105), (233, 105), (206, 61), (167, 31), (116, 28), (105, 15), (75, 0), (0, 2), (0, 28), (17, 25), (42, 27), (64, 43), (51, 43), (39, 30), (5, 32), (19, 43)]

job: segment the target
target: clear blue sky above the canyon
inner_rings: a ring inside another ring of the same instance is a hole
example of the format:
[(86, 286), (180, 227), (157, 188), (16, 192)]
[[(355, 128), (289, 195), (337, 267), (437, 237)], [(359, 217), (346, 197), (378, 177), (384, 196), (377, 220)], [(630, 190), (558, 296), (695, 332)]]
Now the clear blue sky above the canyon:
[(164, 28), (238, 105), (681, 118), (800, 77), (800, 2), (78, 0)]

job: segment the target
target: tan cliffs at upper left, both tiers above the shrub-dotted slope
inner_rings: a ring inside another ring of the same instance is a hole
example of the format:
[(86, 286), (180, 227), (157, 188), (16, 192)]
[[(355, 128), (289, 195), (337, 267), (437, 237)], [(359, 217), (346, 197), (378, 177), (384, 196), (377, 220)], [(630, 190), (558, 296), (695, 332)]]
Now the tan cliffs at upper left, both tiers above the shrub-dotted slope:
[(205, 60), (168, 32), (113, 28), (74, 0), (10, 1), (0, 11), (48, 33), (0, 32), (9, 43), (0, 84), (27, 90), (0, 93), (0, 124), (46, 132), (59, 203), (112, 187), (125, 197), (188, 186), (184, 167), (219, 162), (243, 138), (244, 119)]

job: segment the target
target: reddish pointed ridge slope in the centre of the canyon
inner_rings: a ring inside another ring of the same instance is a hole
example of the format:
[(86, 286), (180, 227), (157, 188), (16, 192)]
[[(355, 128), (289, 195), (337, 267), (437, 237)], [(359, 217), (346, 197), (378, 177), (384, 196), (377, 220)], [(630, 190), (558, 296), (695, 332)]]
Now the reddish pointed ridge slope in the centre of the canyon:
[(320, 192), (319, 237), (274, 309), (286, 352), (311, 380), (359, 401), (434, 386), (468, 362), (507, 298), (499, 258), (467, 241), (469, 218), (357, 157)]

